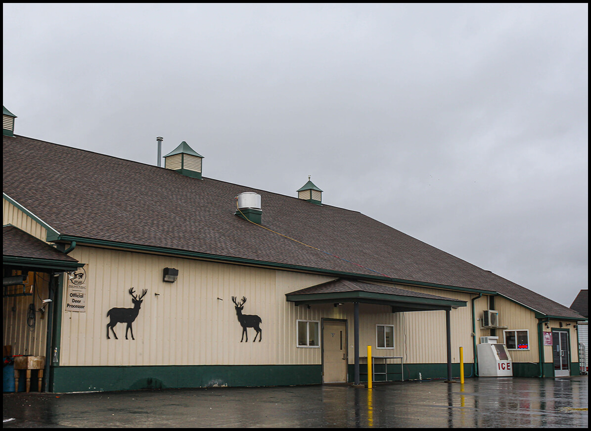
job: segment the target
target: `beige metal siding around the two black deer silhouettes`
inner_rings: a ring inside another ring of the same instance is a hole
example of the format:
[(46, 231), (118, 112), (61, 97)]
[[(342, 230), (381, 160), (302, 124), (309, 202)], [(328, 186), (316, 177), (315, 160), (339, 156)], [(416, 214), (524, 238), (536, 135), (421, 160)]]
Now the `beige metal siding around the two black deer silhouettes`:
[[(274, 270), (87, 247), (72, 256), (88, 263), (87, 311), (63, 312), (61, 365), (277, 363)], [(164, 267), (179, 270), (176, 283), (162, 281)], [(148, 289), (132, 324), (135, 340), (125, 339), (121, 323), (119, 339), (107, 339), (107, 312), (131, 308), (132, 287)], [(252, 328), (240, 342), (232, 296), (246, 296), (243, 314), (261, 317), (262, 342), (252, 342)]]

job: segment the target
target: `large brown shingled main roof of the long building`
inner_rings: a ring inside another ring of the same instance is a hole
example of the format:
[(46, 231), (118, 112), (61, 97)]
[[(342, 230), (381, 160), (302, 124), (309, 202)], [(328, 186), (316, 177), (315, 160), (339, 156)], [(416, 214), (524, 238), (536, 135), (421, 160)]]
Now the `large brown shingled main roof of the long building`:
[[(53, 227), (57, 240), (498, 292), (544, 315), (579, 317), (357, 211), (23, 136), (4, 138), (3, 176), (5, 194)], [(234, 215), (245, 191), (261, 194), (270, 230)]]

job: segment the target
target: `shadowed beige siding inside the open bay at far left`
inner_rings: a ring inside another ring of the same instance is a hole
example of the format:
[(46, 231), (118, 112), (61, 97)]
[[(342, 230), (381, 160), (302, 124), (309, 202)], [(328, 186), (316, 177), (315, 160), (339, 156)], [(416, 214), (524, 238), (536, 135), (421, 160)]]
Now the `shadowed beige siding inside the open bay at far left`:
[[(2, 299), (2, 339), (4, 345), (12, 346), (13, 355), (46, 355), (47, 306), (42, 299), (48, 298), (48, 278), (49, 275), (45, 273), (29, 272), (25, 288), (33, 295)], [(36, 291), (31, 290), (32, 286), (35, 286)], [(28, 315), (31, 303), (35, 309), (34, 319)]]

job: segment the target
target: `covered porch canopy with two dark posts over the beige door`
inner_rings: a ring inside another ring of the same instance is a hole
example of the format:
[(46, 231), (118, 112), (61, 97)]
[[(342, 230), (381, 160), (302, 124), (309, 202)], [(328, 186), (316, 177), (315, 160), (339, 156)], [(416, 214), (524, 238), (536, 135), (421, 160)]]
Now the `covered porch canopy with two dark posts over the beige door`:
[(355, 384), (359, 384), (359, 304), (388, 305), (392, 312), (403, 311), (446, 311), (447, 334), (447, 378), (452, 378), (452, 335), (450, 329), (450, 311), (452, 308), (465, 307), (466, 301), (412, 292), (392, 286), (376, 285), (359, 280), (336, 279), (309, 288), (287, 293), (287, 301), (296, 305), (320, 303), (353, 303), (353, 328), (355, 339)]

